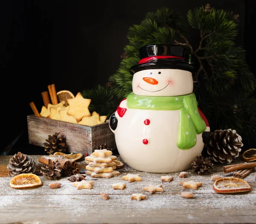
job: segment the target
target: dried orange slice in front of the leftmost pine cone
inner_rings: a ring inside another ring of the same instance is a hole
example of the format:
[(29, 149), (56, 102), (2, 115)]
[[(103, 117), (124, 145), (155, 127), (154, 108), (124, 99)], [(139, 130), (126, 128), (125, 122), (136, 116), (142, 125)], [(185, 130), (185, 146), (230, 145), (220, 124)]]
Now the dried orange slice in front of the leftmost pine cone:
[(41, 186), (43, 183), (38, 175), (22, 173), (13, 177), (9, 184), (12, 188), (29, 188)]

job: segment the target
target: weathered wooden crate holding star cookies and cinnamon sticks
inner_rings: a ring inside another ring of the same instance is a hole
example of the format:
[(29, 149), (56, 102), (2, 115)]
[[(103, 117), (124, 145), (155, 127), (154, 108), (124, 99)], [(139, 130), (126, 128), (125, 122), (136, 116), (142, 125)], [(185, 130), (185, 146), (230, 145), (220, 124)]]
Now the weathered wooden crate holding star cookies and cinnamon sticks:
[(82, 153), (90, 155), (96, 146), (107, 144), (116, 149), (115, 138), (108, 122), (95, 126), (85, 126), (64, 121), (56, 121), (50, 118), (27, 116), (29, 144), (44, 147), (48, 135), (60, 132), (66, 137), (69, 153)]

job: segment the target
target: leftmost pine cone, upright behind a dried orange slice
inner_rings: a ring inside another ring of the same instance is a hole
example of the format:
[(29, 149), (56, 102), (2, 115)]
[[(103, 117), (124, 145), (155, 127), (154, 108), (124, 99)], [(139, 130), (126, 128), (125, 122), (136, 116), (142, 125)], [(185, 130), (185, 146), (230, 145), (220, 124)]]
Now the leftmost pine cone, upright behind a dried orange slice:
[(35, 162), (30, 156), (18, 152), (10, 158), (7, 169), (9, 170), (10, 177), (14, 177), (21, 173), (34, 173)]

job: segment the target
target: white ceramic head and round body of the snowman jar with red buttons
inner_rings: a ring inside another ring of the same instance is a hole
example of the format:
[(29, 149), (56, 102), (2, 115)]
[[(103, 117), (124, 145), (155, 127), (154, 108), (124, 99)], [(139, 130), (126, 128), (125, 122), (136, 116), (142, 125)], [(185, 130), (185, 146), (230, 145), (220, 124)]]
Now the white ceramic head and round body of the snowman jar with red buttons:
[[(150, 78), (154, 84), (145, 81)], [(133, 77), (135, 95), (178, 96), (190, 94), (192, 90), (192, 74), (184, 70), (143, 70)], [(118, 152), (128, 166), (143, 172), (179, 172), (188, 169), (201, 154), (204, 148), (202, 134), (197, 135), (196, 145), (191, 149), (177, 147), (179, 110), (129, 109), (126, 100), (119, 107), (125, 113), (119, 116), (115, 112), (118, 125), (112, 131)]]

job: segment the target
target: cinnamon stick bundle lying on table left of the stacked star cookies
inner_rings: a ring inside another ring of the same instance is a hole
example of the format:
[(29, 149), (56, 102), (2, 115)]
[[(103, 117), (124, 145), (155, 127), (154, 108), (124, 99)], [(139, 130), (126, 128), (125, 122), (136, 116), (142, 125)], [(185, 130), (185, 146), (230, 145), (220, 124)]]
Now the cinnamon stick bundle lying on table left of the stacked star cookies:
[(49, 159), (51, 159), (54, 162), (58, 161), (61, 164), (60, 168), (62, 169), (63, 175), (71, 176), (78, 174), (80, 172), (80, 169), (77, 168), (78, 164), (76, 161), (67, 158), (61, 158), (59, 156), (40, 156), (38, 158), (38, 162), (48, 165)]

